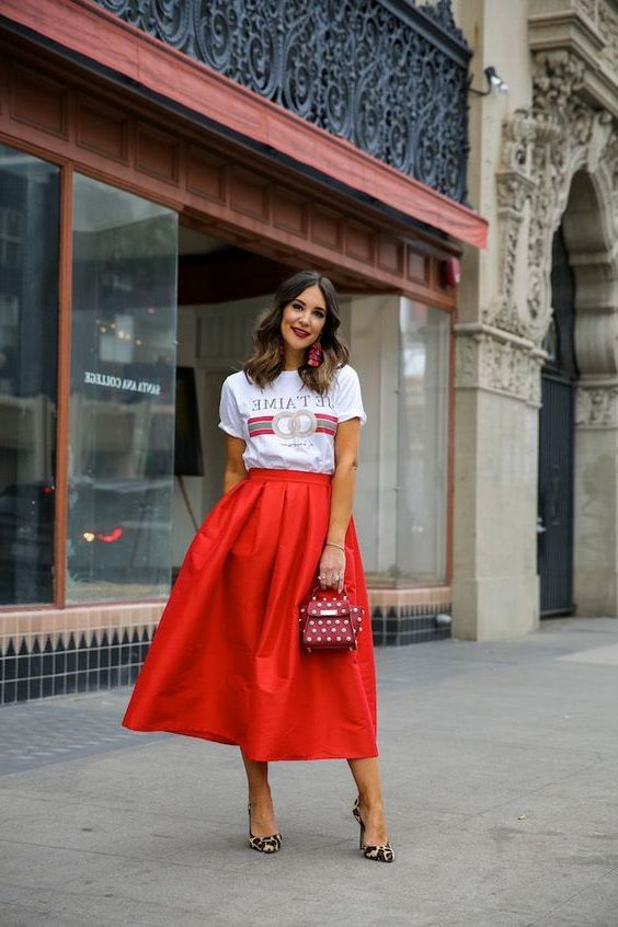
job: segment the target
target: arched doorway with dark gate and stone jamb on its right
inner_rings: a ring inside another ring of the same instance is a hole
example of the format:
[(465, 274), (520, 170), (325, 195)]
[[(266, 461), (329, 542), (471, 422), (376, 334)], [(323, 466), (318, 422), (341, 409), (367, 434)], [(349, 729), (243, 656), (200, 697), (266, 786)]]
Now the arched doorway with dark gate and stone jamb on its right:
[(618, 255), (605, 167), (575, 171), (553, 238), (539, 421), (541, 617), (618, 614)]

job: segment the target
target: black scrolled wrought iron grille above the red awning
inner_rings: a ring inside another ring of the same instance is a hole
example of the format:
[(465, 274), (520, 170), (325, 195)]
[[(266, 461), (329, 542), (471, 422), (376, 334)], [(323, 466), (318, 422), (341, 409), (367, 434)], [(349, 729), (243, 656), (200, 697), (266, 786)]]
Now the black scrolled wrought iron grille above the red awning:
[(450, 0), (96, 2), (387, 164), (465, 201), (470, 50)]

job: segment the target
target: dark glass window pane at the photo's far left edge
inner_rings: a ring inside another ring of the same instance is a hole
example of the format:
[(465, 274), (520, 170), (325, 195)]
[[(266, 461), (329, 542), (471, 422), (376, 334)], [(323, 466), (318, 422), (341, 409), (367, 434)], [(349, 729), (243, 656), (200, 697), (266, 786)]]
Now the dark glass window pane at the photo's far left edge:
[(59, 169), (0, 146), (0, 604), (53, 599)]

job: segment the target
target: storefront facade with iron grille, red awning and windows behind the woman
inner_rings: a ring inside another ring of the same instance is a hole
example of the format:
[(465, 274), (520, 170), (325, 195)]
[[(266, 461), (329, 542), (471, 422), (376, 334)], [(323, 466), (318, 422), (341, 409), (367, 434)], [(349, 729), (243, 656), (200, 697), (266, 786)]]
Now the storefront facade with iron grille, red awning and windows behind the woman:
[(135, 678), (219, 495), (220, 385), (311, 265), (364, 385), (375, 640), (448, 634), (457, 259), (487, 238), (450, 3), (4, 0), (0, 47), (2, 700)]

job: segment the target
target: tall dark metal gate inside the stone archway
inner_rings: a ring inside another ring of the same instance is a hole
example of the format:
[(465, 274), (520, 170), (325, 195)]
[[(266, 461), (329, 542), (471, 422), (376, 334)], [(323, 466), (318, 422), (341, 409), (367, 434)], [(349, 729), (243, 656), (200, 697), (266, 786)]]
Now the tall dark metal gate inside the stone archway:
[(575, 278), (562, 226), (552, 242), (552, 317), (543, 341), (538, 482), (540, 616), (568, 615), (573, 603), (575, 473)]

